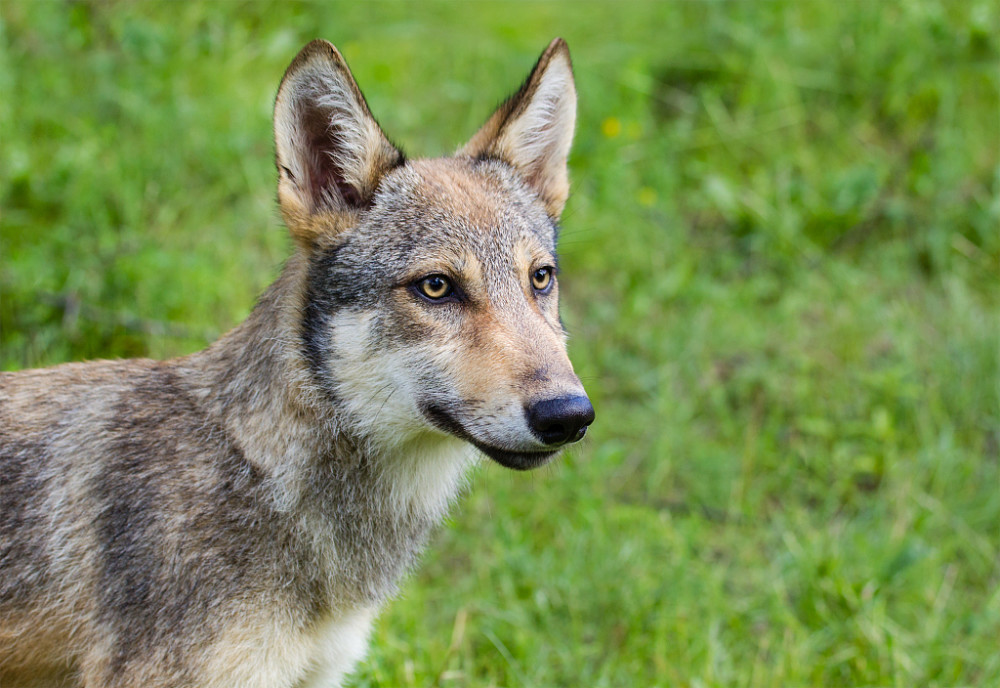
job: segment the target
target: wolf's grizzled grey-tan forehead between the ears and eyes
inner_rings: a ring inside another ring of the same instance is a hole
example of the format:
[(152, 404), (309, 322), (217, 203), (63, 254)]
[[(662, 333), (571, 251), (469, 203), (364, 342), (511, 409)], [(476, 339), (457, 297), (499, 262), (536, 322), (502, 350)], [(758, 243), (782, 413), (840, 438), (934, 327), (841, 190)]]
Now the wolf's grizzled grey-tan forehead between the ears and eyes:
[(558, 227), (510, 165), (459, 156), (411, 160), (392, 170), (371, 209), (345, 234), (373, 257), (412, 263), (456, 253), (497, 260), (518, 245), (552, 255)]

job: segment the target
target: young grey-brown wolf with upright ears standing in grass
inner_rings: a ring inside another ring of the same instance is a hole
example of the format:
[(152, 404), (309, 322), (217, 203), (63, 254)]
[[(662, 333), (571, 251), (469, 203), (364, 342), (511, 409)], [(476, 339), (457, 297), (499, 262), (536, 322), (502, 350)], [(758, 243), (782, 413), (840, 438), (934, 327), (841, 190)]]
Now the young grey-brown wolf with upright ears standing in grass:
[(0, 685), (340, 685), (466, 471), (594, 419), (557, 303), (575, 119), (556, 39), (456, 154), (407, 159), (305, 46), (274, 108), (294, 252), (248, 319), (0, 375)]

